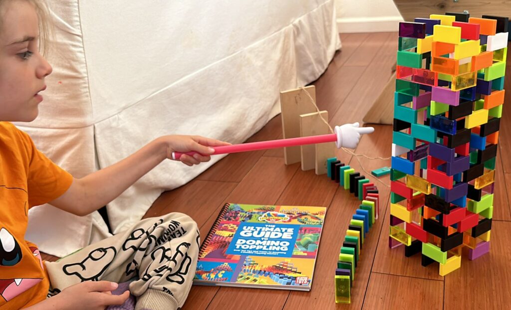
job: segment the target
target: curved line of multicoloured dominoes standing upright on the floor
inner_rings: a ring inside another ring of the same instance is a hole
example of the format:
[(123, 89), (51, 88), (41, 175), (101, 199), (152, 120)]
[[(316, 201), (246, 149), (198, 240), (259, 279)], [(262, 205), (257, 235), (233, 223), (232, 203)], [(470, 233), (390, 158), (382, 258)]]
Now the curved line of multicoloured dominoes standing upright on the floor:
[(346, 230), (335, 270), (335, 302), (350, 303), (355, 268), (366, 234), (378, 219), (380, 195), (374, 183), (335, 157), (327, 160), (327, 175), (362, 201)]

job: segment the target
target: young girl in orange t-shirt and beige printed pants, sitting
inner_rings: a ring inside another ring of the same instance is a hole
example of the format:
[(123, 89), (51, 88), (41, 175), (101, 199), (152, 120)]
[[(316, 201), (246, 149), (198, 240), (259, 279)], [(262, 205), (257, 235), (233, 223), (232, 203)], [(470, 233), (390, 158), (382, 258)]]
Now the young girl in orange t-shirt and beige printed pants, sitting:
[[(83, 216), (120, 195), (173, 151), (212, 154), (209, 147), (226, 143), (162, 136), (117, 164), (73, 178), (8, 123), (37, 117), (44, 79), (52, 73), (38, 51), (39, 26), (45, 29), (46, 18), (40, 0), (0, 0), (0, 308), (103, 309), (126, 301), (128, 291), (111, 291), (117, 282), (131, 280), (137, 309), (176, 309), (188, 295), (196, 268), (199, 232), (191, 218), (171, 213), (146, 219), (48, 263), (24, 240), (28, 209), (51, 203)], [(180, 160), (193, 165), (210, 156), (184, 155)]]

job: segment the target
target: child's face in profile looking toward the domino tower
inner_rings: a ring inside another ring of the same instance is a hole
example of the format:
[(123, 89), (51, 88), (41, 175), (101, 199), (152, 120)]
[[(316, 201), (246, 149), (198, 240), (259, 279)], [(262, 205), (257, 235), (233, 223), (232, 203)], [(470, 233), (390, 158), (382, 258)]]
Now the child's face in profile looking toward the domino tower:
[(52, 73), (39, 54), (38, 17), (24, 0), (7, 2), (0, 9), (0, 121), (31, 122), (38, 114), (44, 78)]

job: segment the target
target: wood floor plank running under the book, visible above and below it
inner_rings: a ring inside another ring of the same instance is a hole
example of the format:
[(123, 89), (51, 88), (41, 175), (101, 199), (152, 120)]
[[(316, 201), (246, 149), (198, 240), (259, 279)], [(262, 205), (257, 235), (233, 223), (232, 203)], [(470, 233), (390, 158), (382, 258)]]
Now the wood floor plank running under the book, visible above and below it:
[[(232, 154), (231, 154), (232, 155)], [(230, 156), (230, 155), (229, 155)], [(236, 186), (222, 202), (245, 204), (275, 204), (293, 175), (299, 163), (286, 166), (283, 158), (261, 157), (248, 172), (245, 178)], [(205, 236), (213, 226), (221, 206), (213, 211), (213, 216), (200, 227), (201, 236)], [(284, 292), (284, 294), (283, 294)], [(266, 294), (280, 296), (267, 300)], [(249, 303), (260, 302), (264, 308), (282, 308), (287, 298), (287, 291), (269, 293), (269, 290), (247, 290), (226, 287), (205, 287), (193, 285), (183, 309), (239, 309)], [(261, 299), (261, 301), (259, 301)], [(274, 307), (274, 303), (280, 307)]]

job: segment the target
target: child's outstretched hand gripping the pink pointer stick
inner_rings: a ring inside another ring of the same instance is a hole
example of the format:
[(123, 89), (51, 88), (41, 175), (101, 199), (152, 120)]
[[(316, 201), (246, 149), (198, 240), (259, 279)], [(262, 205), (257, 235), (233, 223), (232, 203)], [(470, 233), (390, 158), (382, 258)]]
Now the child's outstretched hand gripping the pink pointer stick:
[(204, 161), (209, 161), (211, 159), (211, 154), (215, 151), (213, 148), (209, 147), (219, 147), (219, 146), (227, 146), (230, 143), (223, 142), (216, 139), (205, 138), (201, 136), (185, 136), (185, 135), (171, 135), (161, 137), (164, 139), (167, 144), (167, 158), (172, 159), (172, 152), (191, 152), (196, 151), (200, 154), (195, 154), (194, 156), (183, 154), (179, 160), (192, 166), (194, 164), (199, 164)]

